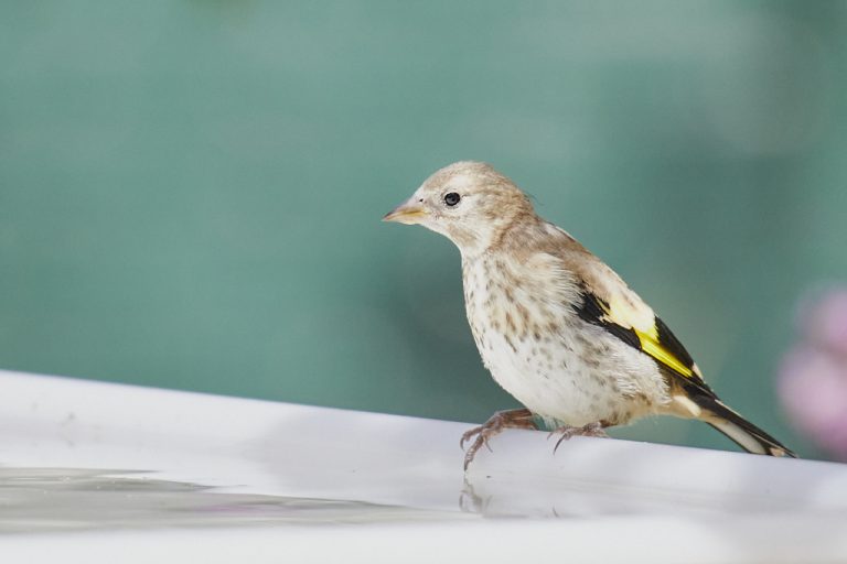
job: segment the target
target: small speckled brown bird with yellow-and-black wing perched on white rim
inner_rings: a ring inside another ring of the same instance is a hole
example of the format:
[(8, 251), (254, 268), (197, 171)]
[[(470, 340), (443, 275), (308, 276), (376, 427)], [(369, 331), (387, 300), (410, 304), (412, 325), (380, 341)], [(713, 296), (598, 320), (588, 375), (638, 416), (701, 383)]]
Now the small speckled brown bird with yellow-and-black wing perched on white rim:
[(650, 415), (699, 420), (749, 453), (796, 457), (723, 403), (639, 294), (490, 164), (437, 171), (383, 220), (420, 225), (459, 248), (473, 340), (523, 404), (462, 435), (465, 470), (506, 429), (553, 430), (555, 454), (566, 438), (607, 436)]

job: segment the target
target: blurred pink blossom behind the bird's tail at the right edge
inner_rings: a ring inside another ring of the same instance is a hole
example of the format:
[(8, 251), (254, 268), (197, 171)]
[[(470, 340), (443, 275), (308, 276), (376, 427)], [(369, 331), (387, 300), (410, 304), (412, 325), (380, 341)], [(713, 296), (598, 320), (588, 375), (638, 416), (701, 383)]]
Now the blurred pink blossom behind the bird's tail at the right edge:
[(810, 302), (800, 326), (780, 369), (782, 402), (806, 435), (847, 462), (847, 290)]

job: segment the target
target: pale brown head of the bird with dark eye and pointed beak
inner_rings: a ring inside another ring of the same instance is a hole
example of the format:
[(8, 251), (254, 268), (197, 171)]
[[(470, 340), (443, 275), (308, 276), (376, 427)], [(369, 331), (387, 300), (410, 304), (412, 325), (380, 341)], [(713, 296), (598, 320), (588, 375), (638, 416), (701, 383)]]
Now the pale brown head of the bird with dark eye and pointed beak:
[(422, 225), (462, 253), (487, 249), (516, 220), (534, 217), (529, 198), (491, 165), (462, 161), (436, 172), (384, 221)]

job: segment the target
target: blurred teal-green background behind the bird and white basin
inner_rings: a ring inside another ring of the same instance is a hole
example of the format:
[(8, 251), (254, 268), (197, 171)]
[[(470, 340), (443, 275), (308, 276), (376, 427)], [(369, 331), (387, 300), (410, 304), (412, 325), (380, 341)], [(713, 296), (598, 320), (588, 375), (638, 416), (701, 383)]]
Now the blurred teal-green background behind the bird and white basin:
[(0, 366), (482, 421), (458, 252), (379, 221), (475, 159), (816, 456), (773, 378), (847, 272), (845, 68), (835, 1), (3, 2)]

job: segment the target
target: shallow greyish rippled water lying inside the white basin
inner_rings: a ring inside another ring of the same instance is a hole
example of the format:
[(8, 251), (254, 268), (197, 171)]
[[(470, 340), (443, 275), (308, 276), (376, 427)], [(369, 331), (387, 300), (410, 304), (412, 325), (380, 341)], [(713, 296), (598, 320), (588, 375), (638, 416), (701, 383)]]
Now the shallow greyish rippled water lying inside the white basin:
[(146, 473), (0, 468), (0, 534), (121, 529), (362, 524), (461, 513), (364, 501), (224, 494)]

